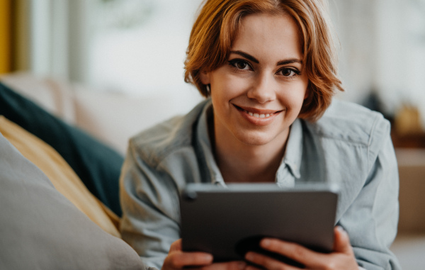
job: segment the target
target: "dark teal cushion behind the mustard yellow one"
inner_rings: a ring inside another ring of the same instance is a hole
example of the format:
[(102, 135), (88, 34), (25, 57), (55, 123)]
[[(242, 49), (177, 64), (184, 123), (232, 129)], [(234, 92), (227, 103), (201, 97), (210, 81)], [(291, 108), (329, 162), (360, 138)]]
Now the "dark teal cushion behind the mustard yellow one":
[(81, 181), (118, 216), (118, 181), (122, 155), (87, 133), (64, 123), (32, 101), (0, 83), (0, 115), (52, 146)]

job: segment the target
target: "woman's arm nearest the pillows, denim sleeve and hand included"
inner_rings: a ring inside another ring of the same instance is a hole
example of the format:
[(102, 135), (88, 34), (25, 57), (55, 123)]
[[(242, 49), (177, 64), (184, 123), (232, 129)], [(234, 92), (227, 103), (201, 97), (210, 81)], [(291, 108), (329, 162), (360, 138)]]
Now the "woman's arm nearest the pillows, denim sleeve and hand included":
[(185, 266), (204, 270), (242, 270), (246, 266), (243, 261), (212, 263), (211, 254), (181, 250), (176, 184), (171, 176), (147, 166), (131, 150), (123, 165), (120, 185), (123, 240), (148, 266), (164, 270)]

